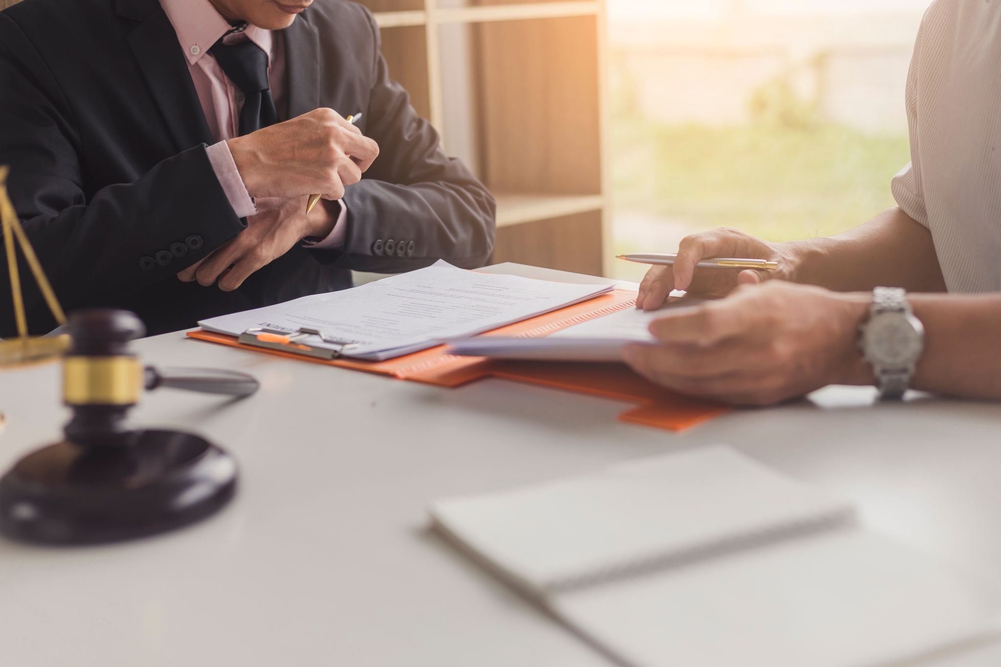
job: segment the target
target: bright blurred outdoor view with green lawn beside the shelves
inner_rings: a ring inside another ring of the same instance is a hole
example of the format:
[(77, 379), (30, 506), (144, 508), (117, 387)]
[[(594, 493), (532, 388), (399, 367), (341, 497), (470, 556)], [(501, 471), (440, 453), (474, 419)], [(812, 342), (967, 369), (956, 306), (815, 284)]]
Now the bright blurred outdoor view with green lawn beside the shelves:
[(718, 226), (829, 235), (894, 205), (928, 4), (608, 0), (615, 251), (672, 252)]

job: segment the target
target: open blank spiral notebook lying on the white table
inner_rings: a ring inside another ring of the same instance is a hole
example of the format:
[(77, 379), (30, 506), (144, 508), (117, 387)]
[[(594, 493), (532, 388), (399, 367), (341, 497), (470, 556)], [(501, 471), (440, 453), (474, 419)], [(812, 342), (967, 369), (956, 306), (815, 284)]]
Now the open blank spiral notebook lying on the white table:
[(441, 500), (430, 514), (634, 667), (925, 664), (997, 633), (992, 590), (729, 447)]

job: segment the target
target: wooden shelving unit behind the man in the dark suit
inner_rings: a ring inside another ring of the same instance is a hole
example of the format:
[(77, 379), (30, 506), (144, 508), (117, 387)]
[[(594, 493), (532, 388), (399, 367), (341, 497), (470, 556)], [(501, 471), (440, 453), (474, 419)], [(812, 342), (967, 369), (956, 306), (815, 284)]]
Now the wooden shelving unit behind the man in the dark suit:
[(497, 199), (494, 262), (602, 274), (604, 0), (362, 0), (390, 75)]

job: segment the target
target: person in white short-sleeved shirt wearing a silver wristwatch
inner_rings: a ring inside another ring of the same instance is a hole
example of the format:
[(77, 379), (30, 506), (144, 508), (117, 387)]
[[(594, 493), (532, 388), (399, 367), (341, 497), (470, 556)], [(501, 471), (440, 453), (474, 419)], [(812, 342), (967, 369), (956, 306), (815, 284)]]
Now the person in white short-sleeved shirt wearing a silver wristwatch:
[[(638, 306), (657, 308), (672, 289), (730, 296), (666, 314), (651, 326), (661, 344), (632, 346), (626, 361), (733, 403), (874, 382), (888, 397), (910, 386), (1001, 398), (999, 3), (932, 4), (906, 103), (911, 163), (893, 179), (897, 208), (833, 238), (687, 237), (673, 268), (647, 274)], [(697, 270), (707, 257), (768, 258), (779, 270)]]

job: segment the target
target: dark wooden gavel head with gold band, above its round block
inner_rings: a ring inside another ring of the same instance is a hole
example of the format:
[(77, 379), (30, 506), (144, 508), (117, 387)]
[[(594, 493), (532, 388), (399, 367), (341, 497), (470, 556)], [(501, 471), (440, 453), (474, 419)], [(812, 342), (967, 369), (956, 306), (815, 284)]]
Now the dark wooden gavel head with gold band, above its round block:
[(72, 347), (63, 359), (63, 402), (73, 410), (66, 439), (94, 447), (129, 444), (128, 410), (139, 400), (143, 370), (128, 342), (146, 328), (126, 310), (93, 309), (70, 315)]

